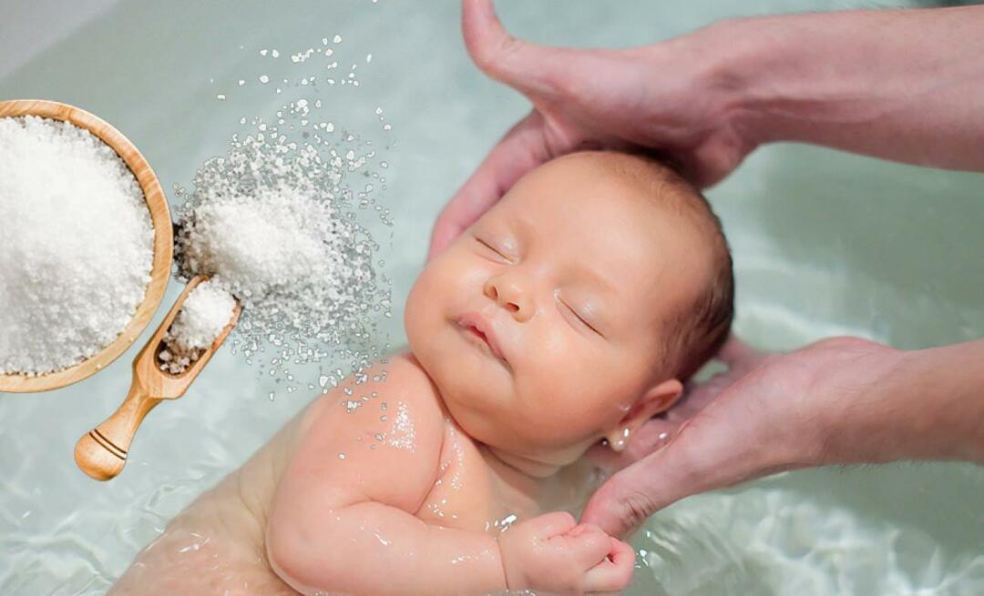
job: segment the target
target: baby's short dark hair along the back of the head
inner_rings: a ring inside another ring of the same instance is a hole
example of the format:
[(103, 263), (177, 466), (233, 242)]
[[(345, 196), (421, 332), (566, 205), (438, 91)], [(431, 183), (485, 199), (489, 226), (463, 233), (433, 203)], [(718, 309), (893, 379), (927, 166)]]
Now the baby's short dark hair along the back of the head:
[(734, 319), (734, 272), (721, 221), (707, 198), (666, 163), (646, 155), (612, 151), (605, 151), (598, 161), (619, 178), (642, 186), (661, 206), (686, 217), (712, 251), (707, 285), (693, 302), (664, 322), (665, 336), (670, 340), (662, 356), (662, 369), (686, 381), (717, 353)]

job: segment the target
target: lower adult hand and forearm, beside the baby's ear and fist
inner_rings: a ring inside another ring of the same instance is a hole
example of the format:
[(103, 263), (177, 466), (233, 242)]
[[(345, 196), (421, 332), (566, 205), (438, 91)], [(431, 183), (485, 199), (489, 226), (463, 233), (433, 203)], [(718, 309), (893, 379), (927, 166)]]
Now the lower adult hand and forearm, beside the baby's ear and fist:
[(794, 468), (984, 461), (982, 355), (984, 341), (904, 352), (838, 337), (762, 355), (732, 340), (722, 353), (731, 372), (688, 398), (709, 403), (685, 413), (693, 417), (665, 445), (653, 433), (674, 422), (656, 421), (639, 446), (609, 458), (639, 460), (591, 497), (582, 521), (623, 536), (684, 497)]

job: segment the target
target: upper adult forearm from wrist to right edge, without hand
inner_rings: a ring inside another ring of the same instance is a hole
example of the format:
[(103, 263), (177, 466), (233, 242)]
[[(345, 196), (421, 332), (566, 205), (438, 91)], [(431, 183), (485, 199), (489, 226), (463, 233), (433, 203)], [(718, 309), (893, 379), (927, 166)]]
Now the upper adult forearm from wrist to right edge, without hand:
[(984, 6), (743, 19), (698, 35), (754, 145), (984, 171)]

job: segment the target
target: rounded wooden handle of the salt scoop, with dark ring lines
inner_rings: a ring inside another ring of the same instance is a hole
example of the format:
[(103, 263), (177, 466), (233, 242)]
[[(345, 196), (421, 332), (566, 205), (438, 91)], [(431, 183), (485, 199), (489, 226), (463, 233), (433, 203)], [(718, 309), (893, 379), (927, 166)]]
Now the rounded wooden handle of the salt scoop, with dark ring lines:
[(119, 474), (140, 423), (160, 401), (134, 379), (130, 393), (113, 415), (83, 435), (75, 445), (75, 462), (79, 468), (96, 480), (109, 480)]

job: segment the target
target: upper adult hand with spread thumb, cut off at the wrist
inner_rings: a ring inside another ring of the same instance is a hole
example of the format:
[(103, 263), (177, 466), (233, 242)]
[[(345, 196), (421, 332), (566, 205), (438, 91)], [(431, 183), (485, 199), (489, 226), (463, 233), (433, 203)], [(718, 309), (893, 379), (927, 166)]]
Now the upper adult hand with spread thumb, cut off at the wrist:
[(491, 0), (464, 0), (468, 53), (533, 110), (493, 148), (441, 211), (428, 259), (491, 208), (523, 174), (578, 149), (642, 149), (671, 159), (699, 186), (731, 172), (755, 143), (733, 121), (735, 86), (716, 81), (720, 35), (629, 50), (546, 47), (511, 36)]

